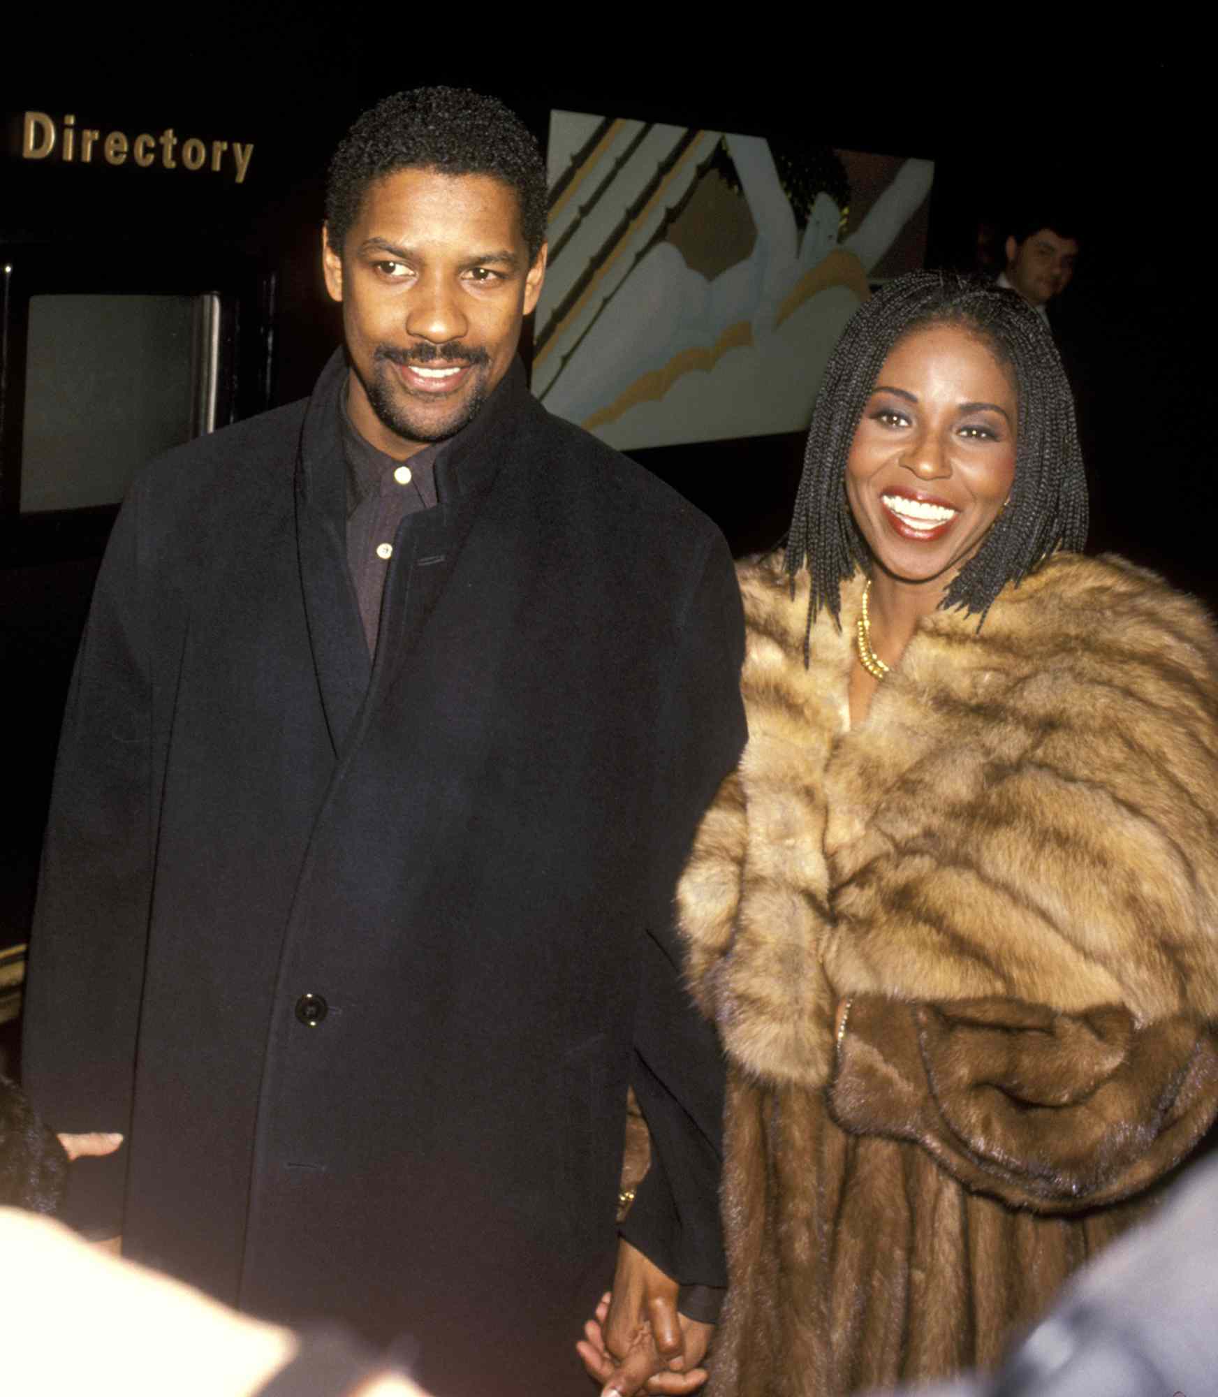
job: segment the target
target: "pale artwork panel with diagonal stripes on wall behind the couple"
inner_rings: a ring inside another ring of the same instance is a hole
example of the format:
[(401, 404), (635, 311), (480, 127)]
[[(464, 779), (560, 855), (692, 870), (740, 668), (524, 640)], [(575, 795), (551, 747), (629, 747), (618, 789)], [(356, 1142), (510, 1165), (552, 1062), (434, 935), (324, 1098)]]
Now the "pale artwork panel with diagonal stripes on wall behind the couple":
[(922, 265), (933, 173), (552, 112), (534, 393), (622, 451), (805, 430), (869, 286)]

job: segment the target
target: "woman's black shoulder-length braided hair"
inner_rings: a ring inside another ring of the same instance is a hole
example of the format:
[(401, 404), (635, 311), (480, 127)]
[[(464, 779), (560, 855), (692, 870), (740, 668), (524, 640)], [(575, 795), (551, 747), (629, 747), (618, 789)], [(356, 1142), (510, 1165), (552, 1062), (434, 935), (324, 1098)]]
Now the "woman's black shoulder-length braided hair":
[(1087, 541), (1087, 476), (1074, 400), (1045, 321), (1013, 291), (954, 272), (912, 272), (888, 282), (855, 313), (826, 367), (795, 515), (786, 571), (806, 564), (807, 629), (821, 606), (841, 626), (841, 584), (872, 555), (846, 500), (846, 457), (863, 409), (894, 345), (929, 326), (975, 334), (1014, 373), (1020, 414), (1015, 481), (1006, 510), (953, 578), (940, 605), (982, 620), (1003, 587), (1027, 577), (1059, 548)]

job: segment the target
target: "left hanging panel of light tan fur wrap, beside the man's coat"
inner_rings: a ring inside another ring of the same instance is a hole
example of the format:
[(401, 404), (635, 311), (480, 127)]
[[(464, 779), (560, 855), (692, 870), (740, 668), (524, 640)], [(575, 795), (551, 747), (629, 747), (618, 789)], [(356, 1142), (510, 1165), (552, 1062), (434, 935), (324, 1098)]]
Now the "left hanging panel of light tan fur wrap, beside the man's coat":
[(834, 1003), (820, 961), (823, 773), (839, 698), (821, 669), (802, 662), (806, 580), (792, 599), (785, 577), (746, 564), (740, 591), (749, 742), (694, 840), (679, 923), (691, 988), (726, 1051), (750, 1073), (820, 1083)]

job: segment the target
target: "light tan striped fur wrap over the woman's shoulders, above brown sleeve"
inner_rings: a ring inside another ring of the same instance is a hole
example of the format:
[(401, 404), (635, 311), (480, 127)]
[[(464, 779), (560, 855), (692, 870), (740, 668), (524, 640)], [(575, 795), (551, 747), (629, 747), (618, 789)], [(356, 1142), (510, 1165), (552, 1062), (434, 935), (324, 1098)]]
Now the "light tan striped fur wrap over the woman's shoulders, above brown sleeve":
[(803, 666), (807, 576), (744, 564), (749, 745), (679, 890), (751, 1076), (821, 1085), (839, 996), (1218, 1017), (1218, 637), (1120, 559), (936, 612), (849, 731), (862, 578)]

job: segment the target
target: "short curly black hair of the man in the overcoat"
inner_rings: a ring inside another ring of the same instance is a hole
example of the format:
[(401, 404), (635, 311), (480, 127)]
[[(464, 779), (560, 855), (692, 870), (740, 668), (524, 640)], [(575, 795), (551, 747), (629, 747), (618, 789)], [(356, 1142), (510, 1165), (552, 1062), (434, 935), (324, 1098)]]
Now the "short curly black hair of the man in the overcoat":
[(490, 175), (515, 191), (529, 263), (546, 240), (546, 166), (534, 134), (497, 98), (467, 88), (415, 88), (365, 112), (330, 162), (325, 224), (342, 256), (367, 190), (401, 169)]

